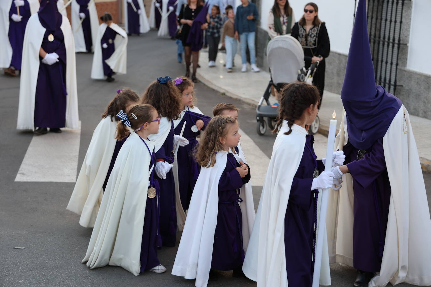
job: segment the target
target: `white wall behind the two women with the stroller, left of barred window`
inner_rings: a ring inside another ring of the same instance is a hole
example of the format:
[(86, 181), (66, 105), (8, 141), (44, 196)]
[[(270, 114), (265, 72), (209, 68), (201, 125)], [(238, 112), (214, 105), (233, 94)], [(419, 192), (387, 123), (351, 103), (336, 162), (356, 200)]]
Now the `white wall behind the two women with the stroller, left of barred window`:
[[(428, 0), (422, 0), (428, 1)], [(294, 10), (295, 19), (298, 21), (304, 11), (306, 3), (310, 0), (290, 0), (290, 6)], [(350, 46), (350, 37), (353, 28), (353, 12), (355, 10), (354, 0), (314, 0), (319, 7), (319, 18), (326, 23), (331, 50), (347, 55)], [(431, 3), (431, 1), (430, 1)], [(260, 23), (262, 29), (267, 29), (268, 13), (274, 5), (274, 0), (262, 0), (260, 11)]]

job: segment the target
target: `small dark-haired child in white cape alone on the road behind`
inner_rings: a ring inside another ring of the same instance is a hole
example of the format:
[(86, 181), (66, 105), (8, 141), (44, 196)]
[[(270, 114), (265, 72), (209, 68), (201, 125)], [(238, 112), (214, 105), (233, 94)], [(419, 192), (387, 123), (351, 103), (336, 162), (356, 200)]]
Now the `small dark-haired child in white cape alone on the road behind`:
[(127, 72), (127, 33), (119, 25), (112, 23), (112, 15), (105, 13), (100, 17), (97, 40), (94, 45), (91, 78), (112, 82), (113, 74)]

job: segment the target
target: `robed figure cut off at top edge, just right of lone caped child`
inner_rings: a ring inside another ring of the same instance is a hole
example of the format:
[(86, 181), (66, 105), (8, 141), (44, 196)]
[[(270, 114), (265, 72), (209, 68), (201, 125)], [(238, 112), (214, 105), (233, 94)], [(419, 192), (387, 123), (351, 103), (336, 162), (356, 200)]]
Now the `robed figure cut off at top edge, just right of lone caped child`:
[(142, 0), (123, 1), (124, 28), (128, 35), (143, 34), (150, 31), (150, 22)]

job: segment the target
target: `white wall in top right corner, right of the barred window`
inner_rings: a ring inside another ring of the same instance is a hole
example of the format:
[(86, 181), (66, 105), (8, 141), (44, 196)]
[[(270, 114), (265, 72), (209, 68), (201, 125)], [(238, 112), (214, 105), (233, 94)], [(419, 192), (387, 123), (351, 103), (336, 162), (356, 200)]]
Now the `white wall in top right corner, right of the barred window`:
[(428, 28), (430, 11), (430, 0), (412, 1), (412, 22), (410, 25), (407, 68), (425, 74), (431, 74), (431, 60), (429, 56), (431, 36)]

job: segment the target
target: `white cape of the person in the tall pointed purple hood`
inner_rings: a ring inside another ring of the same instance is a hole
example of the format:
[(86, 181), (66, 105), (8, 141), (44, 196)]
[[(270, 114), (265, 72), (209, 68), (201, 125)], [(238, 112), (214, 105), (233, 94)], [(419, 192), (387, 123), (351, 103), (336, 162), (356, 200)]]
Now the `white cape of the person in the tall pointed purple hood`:
[[(344, 133), (347, 143), (346, 126)], [(380, 273), (369, 287), (386, 286), (388, 282), (431, 285), (431, 220), (418, 150), (404, 105), (383, 137), (383, 148), (391, 187), (389, 216)], [(335, 235), (336, 260), (353, 266), (352, 176), (344, 175), (343, 181)], [(337, 206), (333, 209), (337, 210)]]

